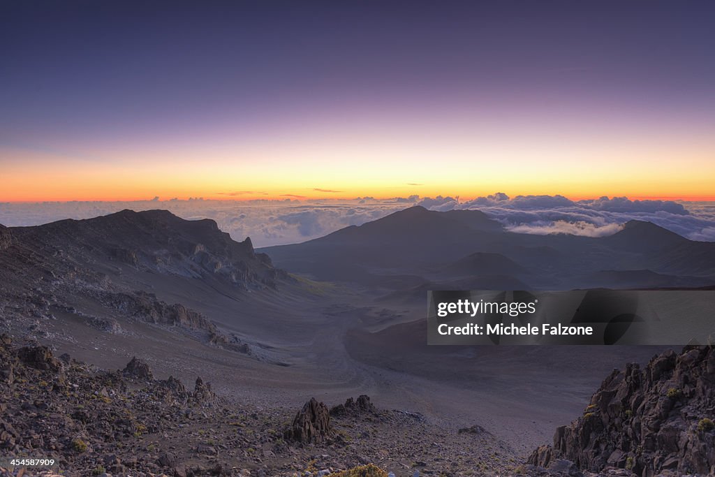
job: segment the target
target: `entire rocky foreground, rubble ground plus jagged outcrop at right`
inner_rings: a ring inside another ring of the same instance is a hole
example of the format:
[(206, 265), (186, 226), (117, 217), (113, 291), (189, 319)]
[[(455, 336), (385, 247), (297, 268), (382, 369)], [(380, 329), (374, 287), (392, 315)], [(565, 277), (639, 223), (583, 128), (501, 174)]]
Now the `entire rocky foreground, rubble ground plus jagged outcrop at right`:
[(136, 358), (101, 370), (0, 337), (0, 457), (52, 458), (0, 476), (683, 476), (715, 474), (715, 351), (613, 370), (526, 463), (474, 424), (440, 428), (365, 395), (261, 408), (154, 378)]

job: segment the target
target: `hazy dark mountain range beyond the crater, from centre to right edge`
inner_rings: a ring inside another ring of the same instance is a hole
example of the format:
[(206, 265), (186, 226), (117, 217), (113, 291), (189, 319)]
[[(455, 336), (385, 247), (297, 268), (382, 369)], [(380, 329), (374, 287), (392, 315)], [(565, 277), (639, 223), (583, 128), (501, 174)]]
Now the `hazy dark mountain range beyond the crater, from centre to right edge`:
[(693, 242), (638, 220), (608, 237), (528, 235), (507, 232), (476, 210), (410, 207), (360, 227), (265, 251), (287, 270), (368, 287), (383, 287), (398, 276), (410, 276), (412, 283), (415, 277), (445, 283), (490, 275), (502, 277), (498, 282), (521, 280), (544, 289), (715, 282), (715, 244)]

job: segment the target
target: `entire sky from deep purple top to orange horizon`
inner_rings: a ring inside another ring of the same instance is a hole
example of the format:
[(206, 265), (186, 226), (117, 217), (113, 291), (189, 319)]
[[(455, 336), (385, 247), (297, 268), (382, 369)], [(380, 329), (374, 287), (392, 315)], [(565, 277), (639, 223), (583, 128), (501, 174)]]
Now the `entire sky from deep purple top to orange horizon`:
[(711, 1), (4, 1), (0, 202), (715, 200)]

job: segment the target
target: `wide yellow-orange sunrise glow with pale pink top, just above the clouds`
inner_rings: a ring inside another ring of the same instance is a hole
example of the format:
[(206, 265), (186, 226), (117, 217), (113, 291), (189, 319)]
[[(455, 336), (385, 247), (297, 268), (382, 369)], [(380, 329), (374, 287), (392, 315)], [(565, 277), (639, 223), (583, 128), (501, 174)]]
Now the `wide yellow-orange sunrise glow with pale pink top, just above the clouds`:
[(119, 149), (95, 145), (77, 147), (74, 154), (0, 146), (0, 202), (130, 202), (157, 196), (384, 200), (410, 195), (463, 202), (495, 192), (571, 200), (715, 200), (709, 141), (324, 139)]

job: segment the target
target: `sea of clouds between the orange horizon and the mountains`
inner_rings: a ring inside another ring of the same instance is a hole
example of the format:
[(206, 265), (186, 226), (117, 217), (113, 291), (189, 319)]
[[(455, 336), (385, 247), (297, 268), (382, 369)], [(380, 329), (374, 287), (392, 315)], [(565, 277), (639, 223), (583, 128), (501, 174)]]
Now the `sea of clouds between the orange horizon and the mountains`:
[(430, 210), (481, 210), (519, 233), (566, 233), (601, 237), (628, 220), (647, 220), (691, 240), (715, 241), (715, 202), (674, 202), (600, 197), (569, 200), (561, 195), (508, 197), (501, 192), (460, 201), (459, 197), (395, 197), (377, 200), (140, 200), (132, 202), (0, 202), (0, 223), (39, 225), (61, 219), (86, 219), (123, 209), (166, 209), (185, 219), (210, 218), (235, 240), (251, 237), (255, 247), (305, 242), (348, 225), (384, 217), (405, 207)]

